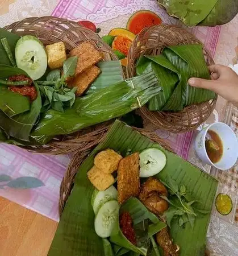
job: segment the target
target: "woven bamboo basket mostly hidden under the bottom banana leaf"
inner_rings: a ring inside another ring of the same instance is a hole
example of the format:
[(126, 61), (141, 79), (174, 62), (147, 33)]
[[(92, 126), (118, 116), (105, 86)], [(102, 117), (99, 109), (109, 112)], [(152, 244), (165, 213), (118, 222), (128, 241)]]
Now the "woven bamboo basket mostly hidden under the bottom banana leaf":
[[(98, 139), (95, 142), (96, 144), (99, 144), (106, 136), (106, 133), (110, 126), (107, 127), (105, 130), (105, 135), (103, 135), (100, 139)], [(132, 127), (133, 130), (138, 131), (145, 137), (151, 139), (151, 141), (156, 142), (160, 144), (162, 147), (166, 148), (167, 150), (173, 152), (172, 148), (169, 146), (167, 142), (165, 142), (163, 139), (159, 138), (155, 133), (152, 133), (151, 131), (147, 131), (145, 129), (137, 129), (135, 127)], [(69, 166), (65, 172), (65, 175), (61, 181), (60, 185), (60, 199), (59, 199), (59, 213), (60, 216), (62, 214), (62, 211), (64, 210), (66, 201), (68, 200), (70, 193), (72, 191), (73, 185), (74, 185), (74, 179), (77, 174), (78, 168), (81, 166), (83, 160), (86, 159), (86, 157), (90, 154), (90, 149), (85, 151), (76, 151), (73, 154), (72, 159), (70, 160)]]

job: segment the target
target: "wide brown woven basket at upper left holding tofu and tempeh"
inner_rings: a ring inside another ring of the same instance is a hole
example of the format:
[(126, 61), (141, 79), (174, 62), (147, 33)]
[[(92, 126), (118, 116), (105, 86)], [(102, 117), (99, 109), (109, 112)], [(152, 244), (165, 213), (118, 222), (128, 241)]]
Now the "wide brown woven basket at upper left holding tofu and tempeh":
[[(102, 53), (103, 60), (118, 60), (112, 49), (97, 34), (71, 20), (52, 16), (27, 18), (12, 23), (6, 26), (5, 29), (19, 36), (36, 36), (44, 45), (64, 42), (66, 52), (69, 52), (82, 42), (89, 41)], [(32, 152), (53, 155), (64, 155), (78, 150), (85, 151), (101, 140), (110, 123), (105, 122), (77, 133), (57, 136), (44, 146), (26, 146), (24, 148)]]

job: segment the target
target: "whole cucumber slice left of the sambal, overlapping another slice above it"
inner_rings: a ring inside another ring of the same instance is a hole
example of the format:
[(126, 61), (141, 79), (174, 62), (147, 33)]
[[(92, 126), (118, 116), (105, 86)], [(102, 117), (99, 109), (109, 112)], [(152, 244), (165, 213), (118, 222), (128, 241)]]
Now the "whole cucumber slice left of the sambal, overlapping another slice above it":
[(108, 201), (99, 208), (95, 217), (94, 228), (99, 237), (111, 236), (112, 229), (118, 221), (119, 204), (116, 200)]

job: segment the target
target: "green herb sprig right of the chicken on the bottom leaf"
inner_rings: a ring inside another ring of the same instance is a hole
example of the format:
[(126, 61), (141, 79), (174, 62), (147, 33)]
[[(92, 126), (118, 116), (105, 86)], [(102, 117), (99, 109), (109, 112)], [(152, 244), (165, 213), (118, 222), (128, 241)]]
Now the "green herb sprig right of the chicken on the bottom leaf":
[(177, 182), (168, 177), (167, 181), (161, 181), (169, 189), (170, 198), (161, 196), (170, 204), (169, 209), (164, 213), (168, 226), (170, 227), (171, 221), (178, 219), (179, 226), (183, 226), (186, 222), (189, 222), (191, 228), (194, 227), (195, 218), (198, 214), (207, 214), (210, 210), (196, 209), (193, 204), (197, 201), (192, 200), (189, 193), (186, 191), (185, 185), (179, 185)]

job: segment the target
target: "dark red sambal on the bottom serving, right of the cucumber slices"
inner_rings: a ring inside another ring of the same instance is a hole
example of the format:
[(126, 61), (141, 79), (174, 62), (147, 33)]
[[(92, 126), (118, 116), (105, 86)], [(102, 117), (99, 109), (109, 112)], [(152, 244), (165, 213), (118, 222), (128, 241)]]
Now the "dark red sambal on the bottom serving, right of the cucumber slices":
[(136, 234), (133, 229), (133, 222), (130, 213), (123, 212), (120, 214), (120, 229), (124, 236), (131, 242), (133, 245), (136, 245)]

